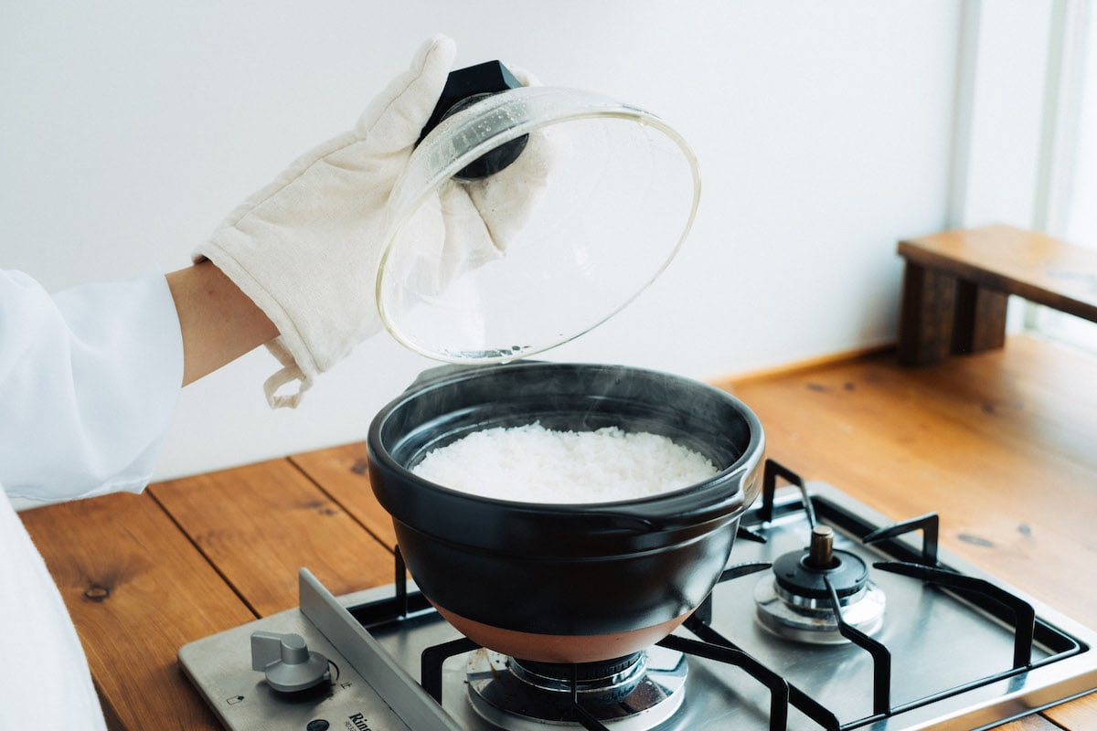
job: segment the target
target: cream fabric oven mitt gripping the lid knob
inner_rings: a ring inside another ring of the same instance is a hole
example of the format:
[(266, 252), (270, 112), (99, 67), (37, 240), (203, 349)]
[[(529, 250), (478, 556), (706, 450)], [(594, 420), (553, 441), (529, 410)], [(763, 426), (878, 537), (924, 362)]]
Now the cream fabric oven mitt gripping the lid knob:
[[(450, 38), (428, 41), (353, 129), (298, 158), (194, 251), (195, 262), (212, 260), (278, 327), (267, 346), (282, 367), (263, 385), (271, 407), (296, 407), (318, 374), (381, 330), (374, 287), (386, 202), (455, 53)], [(417, 217), (408, 232), (416, 245), (441, 248), (438, 286), (502, 255), (543, 193), (550, 158), (547, 146), (528, 145), (522, 164), (501, 171), (509, 175), (499, 183), (446, 186), (434, 219)]]

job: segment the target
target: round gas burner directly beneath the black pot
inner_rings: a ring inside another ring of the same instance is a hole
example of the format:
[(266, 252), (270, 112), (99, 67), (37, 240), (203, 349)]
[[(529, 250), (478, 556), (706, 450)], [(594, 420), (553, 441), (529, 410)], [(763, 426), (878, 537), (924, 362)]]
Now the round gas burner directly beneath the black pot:
[(468, 658), (468, 695), (480, 716), (509, 731), (579, 727), (576, 703), (613, 731), (647, 731), (678, 710), (686, 671), (680, 652), (658, 647), (575, 665), (517, 660), (480, 649)]

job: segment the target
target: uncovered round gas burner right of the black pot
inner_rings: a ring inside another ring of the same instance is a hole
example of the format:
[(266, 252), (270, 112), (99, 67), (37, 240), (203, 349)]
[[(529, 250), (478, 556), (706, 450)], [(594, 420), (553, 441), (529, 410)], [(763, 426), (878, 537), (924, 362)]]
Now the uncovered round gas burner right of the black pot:
[(813, 644), (848, 642), (838, 620), (827, 583), (835, 590), (847, 625), (866, 635), (883, 625), (883, 592), (869, 581), (869, 569), (855, 553), (834, 548), (834, 530), (812, 528), (811, 546), (773, 561), (772, 574), (755, 589), (761, 625), (780, 637)]

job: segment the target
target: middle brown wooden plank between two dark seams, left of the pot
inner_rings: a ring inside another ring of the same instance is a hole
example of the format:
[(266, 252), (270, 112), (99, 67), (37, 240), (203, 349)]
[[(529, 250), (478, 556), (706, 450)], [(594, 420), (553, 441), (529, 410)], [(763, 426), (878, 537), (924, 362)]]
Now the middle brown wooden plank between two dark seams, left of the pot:
[(297, 571), (336, 594), (393, 581), (393, 557), (286, 459), (151, 486), (259, 616), (297, 606)]

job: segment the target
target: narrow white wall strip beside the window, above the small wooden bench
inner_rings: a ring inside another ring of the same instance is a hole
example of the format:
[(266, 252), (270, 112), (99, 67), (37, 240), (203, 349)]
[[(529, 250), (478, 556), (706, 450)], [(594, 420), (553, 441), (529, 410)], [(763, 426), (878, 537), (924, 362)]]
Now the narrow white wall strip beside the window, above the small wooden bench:
[[(1070, 194), (1064, 165), (1076, 153), (1079, 112), (1060, 99), (1074, 70), (1064, 41), (1088, 2), (964, 3), (949, 228), (1008, 224), (1062, 236), (1052, 213)], [(1077, 42), (1088, 28), (1075, 31)], [(1010, 297), (1007, 331), (1020, 331), (1033, 307)]]

